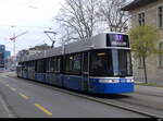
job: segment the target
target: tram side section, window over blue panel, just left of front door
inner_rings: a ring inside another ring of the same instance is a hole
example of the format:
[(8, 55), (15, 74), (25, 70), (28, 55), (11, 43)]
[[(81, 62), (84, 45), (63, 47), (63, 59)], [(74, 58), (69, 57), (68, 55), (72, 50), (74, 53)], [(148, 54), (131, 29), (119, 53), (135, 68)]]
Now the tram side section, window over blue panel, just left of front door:
[(82, 90), (82, 52), (63, 57), (62, 82), (63, 86), (71, 89)]

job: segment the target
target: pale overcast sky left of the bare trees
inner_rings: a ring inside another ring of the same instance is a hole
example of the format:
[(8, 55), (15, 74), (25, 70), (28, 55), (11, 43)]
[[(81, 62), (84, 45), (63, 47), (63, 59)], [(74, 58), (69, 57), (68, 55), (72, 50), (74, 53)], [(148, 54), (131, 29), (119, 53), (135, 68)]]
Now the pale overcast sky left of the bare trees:
[(16, 38), (16, 52), (36, 45), (51, 45), (45, 31), (57, 31), (54, 16), (63, 0), (0, 0), (0, 45), (13, 55), (13, 34)]

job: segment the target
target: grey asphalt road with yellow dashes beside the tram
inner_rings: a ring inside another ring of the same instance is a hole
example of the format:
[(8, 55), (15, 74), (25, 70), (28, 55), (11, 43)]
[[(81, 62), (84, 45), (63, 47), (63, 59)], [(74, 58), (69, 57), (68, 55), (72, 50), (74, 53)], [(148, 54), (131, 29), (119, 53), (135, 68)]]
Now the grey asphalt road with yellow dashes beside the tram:
[(0, 118), (146, 118), (0, 74)]

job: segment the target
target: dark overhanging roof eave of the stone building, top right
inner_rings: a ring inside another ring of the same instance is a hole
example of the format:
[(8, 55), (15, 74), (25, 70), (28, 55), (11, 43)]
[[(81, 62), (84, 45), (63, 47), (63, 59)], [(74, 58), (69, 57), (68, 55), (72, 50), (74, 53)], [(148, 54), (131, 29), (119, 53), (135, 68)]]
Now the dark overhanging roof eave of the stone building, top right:
[(156, 0), (134, 0), (133, 2), (130, 2), (127, 5), (123, 7), (121, 10), (123, 10), (123, 11), (131, 11), (134, 9), (147, 5), (147, 4), (155, 2), (155, 1)]

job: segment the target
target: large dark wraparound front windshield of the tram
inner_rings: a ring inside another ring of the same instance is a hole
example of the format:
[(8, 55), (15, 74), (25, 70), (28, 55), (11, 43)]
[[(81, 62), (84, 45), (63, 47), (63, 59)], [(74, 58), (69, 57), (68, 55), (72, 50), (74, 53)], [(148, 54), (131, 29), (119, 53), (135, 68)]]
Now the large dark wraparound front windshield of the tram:
[(96, 50), (90, 56), (91, 76), (131, 76), (130, 50)]

